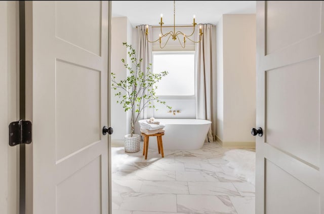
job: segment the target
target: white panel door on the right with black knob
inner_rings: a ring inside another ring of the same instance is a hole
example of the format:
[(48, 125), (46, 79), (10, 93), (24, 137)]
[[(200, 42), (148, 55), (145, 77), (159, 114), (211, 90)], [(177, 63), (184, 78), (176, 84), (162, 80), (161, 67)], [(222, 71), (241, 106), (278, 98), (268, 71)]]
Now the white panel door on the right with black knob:
[(323, 2), (257, 2), (256, 213), (324, 213)]

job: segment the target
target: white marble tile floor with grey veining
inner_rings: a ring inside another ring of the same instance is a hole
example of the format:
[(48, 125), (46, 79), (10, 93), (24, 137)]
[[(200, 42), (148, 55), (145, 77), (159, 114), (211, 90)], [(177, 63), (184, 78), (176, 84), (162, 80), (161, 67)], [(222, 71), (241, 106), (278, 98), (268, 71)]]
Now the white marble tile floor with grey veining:
[(217, 142), (198, 150), (112, 148), (113, 214), (255, 213), (255, 187), (234, 174)]

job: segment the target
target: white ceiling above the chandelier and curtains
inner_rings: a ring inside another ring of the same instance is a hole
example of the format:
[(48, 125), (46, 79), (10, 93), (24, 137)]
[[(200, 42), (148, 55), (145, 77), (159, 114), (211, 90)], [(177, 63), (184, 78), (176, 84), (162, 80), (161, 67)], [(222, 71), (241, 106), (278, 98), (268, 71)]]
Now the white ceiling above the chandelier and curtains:
[[(176, 1), (176, 25), (217, 24), (223, 14), (254, 14), (256, 1)], [(112, 1), (112, 17), (128, 17), (133, 27), (158, 25), (163, 14), (165, 25), (173, 25), (173, 1)]]

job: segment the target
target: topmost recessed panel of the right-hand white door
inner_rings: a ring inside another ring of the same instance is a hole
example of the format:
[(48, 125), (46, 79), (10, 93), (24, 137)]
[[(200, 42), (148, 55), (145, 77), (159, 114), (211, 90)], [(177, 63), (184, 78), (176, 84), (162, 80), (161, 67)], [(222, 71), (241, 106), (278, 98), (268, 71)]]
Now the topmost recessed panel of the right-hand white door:
[[(289, 4), (267, 1), (266, 55), (298, 44), (302, 40), (320, 33), (320, 8), (321, 2), (319, 1), (293, 1)], [(303, 16), (305, 10), (311, 10), (312, 13)], [(291, 11), (294, 13), (290, 13)], [(290, 16), (286, 16), (288, 13)]]

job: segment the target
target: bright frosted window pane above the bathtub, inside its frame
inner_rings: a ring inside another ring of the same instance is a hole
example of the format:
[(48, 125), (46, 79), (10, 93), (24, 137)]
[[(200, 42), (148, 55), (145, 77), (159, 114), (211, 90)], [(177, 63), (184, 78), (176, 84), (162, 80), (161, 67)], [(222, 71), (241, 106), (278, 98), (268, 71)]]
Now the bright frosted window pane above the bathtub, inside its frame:
[(153, 72), (168, 71), (157, 83), (157, 96), (194, 95), (194, 53), (153, 54)]

